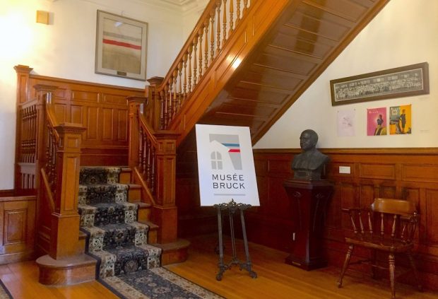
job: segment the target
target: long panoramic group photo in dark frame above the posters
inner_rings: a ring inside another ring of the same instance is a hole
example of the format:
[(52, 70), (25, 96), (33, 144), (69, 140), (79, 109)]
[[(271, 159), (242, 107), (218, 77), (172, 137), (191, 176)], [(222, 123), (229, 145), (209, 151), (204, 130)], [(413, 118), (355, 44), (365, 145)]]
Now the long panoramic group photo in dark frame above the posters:
[(330, 81), (331, 105), (429, 93), (427, 62)]

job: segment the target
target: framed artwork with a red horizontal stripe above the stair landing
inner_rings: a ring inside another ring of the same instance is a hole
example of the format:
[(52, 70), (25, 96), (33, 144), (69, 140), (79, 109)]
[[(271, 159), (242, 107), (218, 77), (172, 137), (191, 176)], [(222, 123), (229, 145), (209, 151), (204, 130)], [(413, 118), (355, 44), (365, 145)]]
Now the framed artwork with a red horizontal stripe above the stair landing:
[(148, 23), (97, 11), (95, 73), (146, 81)]

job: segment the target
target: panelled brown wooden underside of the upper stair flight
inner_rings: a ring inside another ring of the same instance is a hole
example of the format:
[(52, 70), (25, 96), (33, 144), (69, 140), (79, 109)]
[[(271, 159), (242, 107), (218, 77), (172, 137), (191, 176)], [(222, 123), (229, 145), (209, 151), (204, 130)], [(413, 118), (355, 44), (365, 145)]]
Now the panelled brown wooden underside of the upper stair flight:
[(250, 127), (256, 143), (388, 1), (289, 1), (198, 122)]

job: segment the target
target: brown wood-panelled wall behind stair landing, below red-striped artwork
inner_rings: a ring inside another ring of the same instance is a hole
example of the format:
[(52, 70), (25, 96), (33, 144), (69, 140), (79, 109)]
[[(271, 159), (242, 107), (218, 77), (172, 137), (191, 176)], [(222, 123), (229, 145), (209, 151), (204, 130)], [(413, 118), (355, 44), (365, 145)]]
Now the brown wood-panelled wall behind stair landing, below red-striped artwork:
[(37, 99), (33, 86), (56, 86), (52, 95), (59, 123), (83, 125), (81, 165), (128, 165), (127, 96), (143, 96), (144, 89), (109, 86), (30, 74), (18, 80), (18, 90), (27, 90), (20, 104)]

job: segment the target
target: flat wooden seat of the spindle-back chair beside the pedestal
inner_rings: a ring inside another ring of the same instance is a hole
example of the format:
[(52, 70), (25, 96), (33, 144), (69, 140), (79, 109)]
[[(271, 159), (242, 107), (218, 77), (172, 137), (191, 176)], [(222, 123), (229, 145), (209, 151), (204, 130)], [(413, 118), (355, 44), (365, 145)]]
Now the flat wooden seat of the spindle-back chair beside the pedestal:
[(362, 247), (382, 250), (386, 252), (406, 252), (413, 249), (413, 243), (407, 244), (401, 240), (385, 240), (375, 235), (358, 235), (354, 238), (345, 238), (345, 242)]

